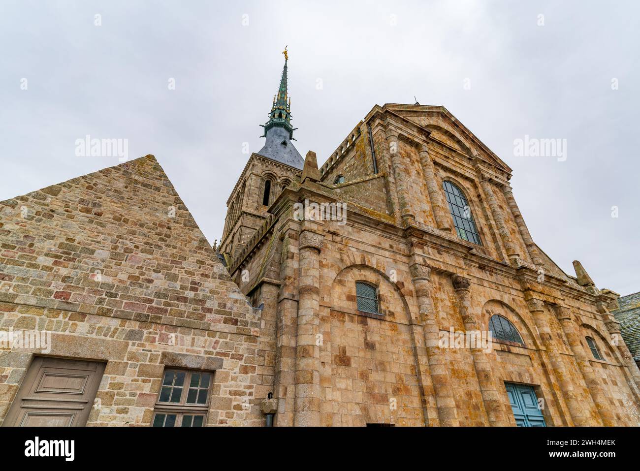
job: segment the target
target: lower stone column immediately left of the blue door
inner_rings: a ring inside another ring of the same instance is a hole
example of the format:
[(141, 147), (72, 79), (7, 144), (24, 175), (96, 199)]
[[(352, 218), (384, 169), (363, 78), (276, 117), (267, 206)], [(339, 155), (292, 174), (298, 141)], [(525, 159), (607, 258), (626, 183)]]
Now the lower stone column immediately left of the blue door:
[[(470, 332), (477, 332), (477, 335), (481, 335), (481, 321), (478, 319), (478, 313), (471, 305), (471, 294), (469, 287), (471, 283), (467, 278), (462, 276), (454, 276), (452, 278), (453, 287), (456, 290), (458, 296), (458, 310), (460, 317), (465, 324), (466, 335)], [(488, 330), (488, 326), (486, 329)], [(509, 419), (504, 413), (502, 404), (502, 395), (499, 391), (499, 384), (493, 376), (492, 363), (490, 353), (483, 351), (483, 348), (479, 342), (472, 342), (471, 356), (474, 360), (474, 367), (476, 368), (476, 376), (478, 378), (478, 384), (480, 385), (480, 392), (482, 394), (484, 409), (489, 419), (489, 423), (496, 427), (506, 427), (509, 425)]]

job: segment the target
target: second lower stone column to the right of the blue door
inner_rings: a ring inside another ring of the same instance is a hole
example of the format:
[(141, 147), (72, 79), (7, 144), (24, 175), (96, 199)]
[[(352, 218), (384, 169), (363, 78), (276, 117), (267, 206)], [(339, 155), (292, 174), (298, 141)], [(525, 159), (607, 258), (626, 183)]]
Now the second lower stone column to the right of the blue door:
[(593, 368), (589, 362), (589, 357), (587, 356), (586, 351), (584, 351), (584, 347), (582, 347), (580, 335), (578, 334), (575, 328), (575, 323), (573, 323), (571, 318), (571, 309), (557, 305), (555, 311), (556, 317), (564, 332), (564, 337), (566, 338), (573, 355), (575, 355), (575, 362), (582, 373), (584, 383), (586, 384), (591, 397), (593, 397), (593, 403), (600, 415), (600, 418), (602, 419), (602, 424), (607, 427), (615, 426), (616, 420), (610, 408), (609, 398), (604, 392), (602, 384), (596, 377), (595, 372), (593, 372)]

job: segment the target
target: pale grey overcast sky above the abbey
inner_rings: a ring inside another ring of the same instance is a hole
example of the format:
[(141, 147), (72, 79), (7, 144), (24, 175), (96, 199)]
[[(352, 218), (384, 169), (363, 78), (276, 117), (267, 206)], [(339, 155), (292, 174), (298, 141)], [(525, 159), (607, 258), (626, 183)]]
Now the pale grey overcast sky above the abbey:
[[(289, 45), (300, 154), (324, 163), (375, 104), (444, 105), (513, 168), (534, 241), (630, 294), (639, 15), (632, 1), (1, 0), (0, 200), (119, 163), (76, 156), (87, 134), (127, 139), (213, 243)], [(525, 135), (566, 140), (566, 160), (516, 156)]]

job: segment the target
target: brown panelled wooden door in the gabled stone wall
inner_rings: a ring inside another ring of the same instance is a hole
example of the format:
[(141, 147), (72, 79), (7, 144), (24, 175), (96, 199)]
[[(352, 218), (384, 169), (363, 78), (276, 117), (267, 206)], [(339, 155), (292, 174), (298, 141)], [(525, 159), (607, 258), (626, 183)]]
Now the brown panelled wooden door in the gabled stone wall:
[(100, 362), (36, 357), (3, 426), (84, 426), (103, 372)]

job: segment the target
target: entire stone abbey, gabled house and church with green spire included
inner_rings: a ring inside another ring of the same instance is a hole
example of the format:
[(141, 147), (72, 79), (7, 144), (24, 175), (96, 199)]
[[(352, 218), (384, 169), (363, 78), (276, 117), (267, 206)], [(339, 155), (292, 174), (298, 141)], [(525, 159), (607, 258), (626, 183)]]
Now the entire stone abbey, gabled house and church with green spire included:
[(0, 204), (4, 426), (640, 424), (617, 294), (447, 109), (374, 106), (320, 167), (293, 132), (285, 54), (214, 248), (153, 156)]

